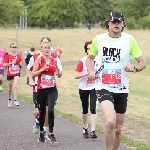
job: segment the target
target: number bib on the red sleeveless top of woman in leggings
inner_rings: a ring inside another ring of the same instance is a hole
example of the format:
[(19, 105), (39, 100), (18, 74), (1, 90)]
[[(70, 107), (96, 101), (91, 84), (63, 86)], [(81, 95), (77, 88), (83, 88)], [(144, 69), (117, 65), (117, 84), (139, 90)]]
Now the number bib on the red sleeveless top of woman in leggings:
[(56, 85), (56, 80), (54, 76), (49, 76), (42, 74), (41, 76), (41, 88), (51, 88)]

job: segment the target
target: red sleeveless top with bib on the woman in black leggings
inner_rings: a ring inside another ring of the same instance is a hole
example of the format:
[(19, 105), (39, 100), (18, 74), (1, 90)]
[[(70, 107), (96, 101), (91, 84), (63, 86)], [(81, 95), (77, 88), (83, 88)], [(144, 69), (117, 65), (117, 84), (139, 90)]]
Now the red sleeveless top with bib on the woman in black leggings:
[[(38, 70), (42, 69), (46, 65), (46, 61), (43, 58), (41, 58), (41, 64), (38, 68)], [(38, 89), (47, 89), (54, 87), (56, 85), (55, 81), (55, 71), (57, 69), (57, 65), (55, 63), (54, 58), (50, 57), (50, 63), (49, 63), (49, 69), (46, 71), (43, 71), (39, 76), (38, 76)]]

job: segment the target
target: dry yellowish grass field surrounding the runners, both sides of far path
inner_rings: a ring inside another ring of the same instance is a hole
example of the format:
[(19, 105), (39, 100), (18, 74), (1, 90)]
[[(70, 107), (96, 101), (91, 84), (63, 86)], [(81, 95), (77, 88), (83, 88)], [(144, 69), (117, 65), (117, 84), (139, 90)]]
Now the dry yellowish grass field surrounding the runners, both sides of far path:
[[(43, 36), (49, 36), (52, 40), (53, 48), (59, 45), (62, 50), (61, 61), (78, 61), (85, 56), (84, 42), (91, 40), (96, 34), (104, 33), (103, 29), (70, 29), (70, 30), (18, 30), (18, 45), (19, 50), (25, 51), (26, 49), (34, 46), (39, 50), (39, 41)], [(145, 58), (150, 58), (149, 53), (149, 30), (131, 30), (126, 31), (134, 35), (143, 51)], [(9, 51), (9, 44), (16, 41), (16, 30), (0, 30), (0, 48), (5, 48)], [(79, 80), (74, 79), (75, 66), (63, 67), (63, 76), (57, 79), (59, 98), (57, 101), (56, 109), (58, 115), (75, 121), (77, 117), (81, 125), (81, 107), (78, 96)], [(137, 150), (150, 149), (150, 63), (147, 68), (140, 73), (129, 73), (130, 77), (130, 94), (128, 101), (128, 110), (126, 113), (125, 123), (123, 127), (123, 142), (127, 145), (136, 147)], [(20, 98), (31, 101), (32, 89), (25, 85), (26, 75), (20, 78)], [(103, 117), (100, 109), (98, 126), (103, 127)], [(32, 114), (31, 114), (32, 115)], [(78, 121), (76, 123), (78, 123)], [(102, 132), (102, 130), (101, 130)], [(147, 144), (145, 146), (145, 144)]]

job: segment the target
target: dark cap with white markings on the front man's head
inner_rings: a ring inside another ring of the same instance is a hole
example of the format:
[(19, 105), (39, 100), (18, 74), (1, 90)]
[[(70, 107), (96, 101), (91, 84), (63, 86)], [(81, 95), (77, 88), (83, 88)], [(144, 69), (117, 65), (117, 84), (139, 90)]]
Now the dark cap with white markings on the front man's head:
[(123, 14), (121, 12), (113, 11), (110, 13), (108, 20), (109, 21), (118, 20), (121, 22), (121, 21), (124, 21), (124, 17), (123, 17)]

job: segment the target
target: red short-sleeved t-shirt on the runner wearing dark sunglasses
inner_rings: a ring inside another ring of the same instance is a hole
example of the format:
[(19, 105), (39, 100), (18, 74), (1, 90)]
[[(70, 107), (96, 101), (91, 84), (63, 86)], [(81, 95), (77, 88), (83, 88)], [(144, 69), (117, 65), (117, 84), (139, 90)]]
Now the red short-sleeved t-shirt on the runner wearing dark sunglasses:
[(16, 60), (16, 63), (7, 67), (7, 76), (15, 76), (16, 74), (20, 73), (19, 63), (22, 61), (22, 59), (19, 54), (16, 54), (16, 56), (11, 54), (6, 55), (4, 58), (4, 63), (11, 63), (14, 59)]

